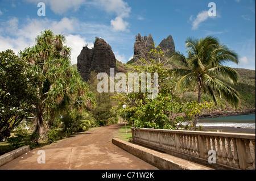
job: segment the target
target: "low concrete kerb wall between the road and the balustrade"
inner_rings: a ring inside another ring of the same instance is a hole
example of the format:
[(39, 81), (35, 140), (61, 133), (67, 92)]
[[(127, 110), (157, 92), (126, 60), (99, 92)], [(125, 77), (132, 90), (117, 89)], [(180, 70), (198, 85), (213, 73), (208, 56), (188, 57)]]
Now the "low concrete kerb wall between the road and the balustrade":
[(211, 168), (199, 165), (174, 157), (169, 154), (160, 153), (152, 149), (144, 148), (143, 146), (131, 144), (118, 138), (113, 138), (112, 143), (119, 148), (126, 150), (128, 153), (135, 155), (136, 157), (150, 163), (151, 165), (162, 170), (211, 170)]

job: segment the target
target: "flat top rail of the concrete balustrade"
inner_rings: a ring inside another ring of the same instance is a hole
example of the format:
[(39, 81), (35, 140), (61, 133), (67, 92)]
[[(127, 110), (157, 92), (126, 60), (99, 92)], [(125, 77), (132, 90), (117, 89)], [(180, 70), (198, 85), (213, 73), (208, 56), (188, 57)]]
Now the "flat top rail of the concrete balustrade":
[(228, 132), (205, 132), (205, 131), (184, 131), (184, 130), (168, 130), (168, 129), (148, 129), (148, 128), (131, 128), (135, 130), (151, 131), (151, 132), (166, 132), (166, 133), (177, 133), (177, 134), (191, 134), (201, 136), (213, 136), (213, 137), (229, 137), (229, 138), (241, 138), (255, 140), (255, 134), (247, 133), (228, 133)]

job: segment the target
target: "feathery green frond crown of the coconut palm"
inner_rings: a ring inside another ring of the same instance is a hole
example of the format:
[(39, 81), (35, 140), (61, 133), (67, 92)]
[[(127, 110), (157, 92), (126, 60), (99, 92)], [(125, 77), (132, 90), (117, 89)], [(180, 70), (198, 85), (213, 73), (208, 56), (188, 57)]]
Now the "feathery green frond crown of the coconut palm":
[(188, 57), (180, 52), (171, 57), (171, 60), (176, 60), (181, 65), (180, 68), (174, 68), (174, 72), (181, 76), (176, 90), (181, 92), (197, 85), (198, 103), (201, 103), (201, 94), (204, 92), (212, 96), (216, 103), (217, 94), (228, 100), (233, 107), (237, 107), (240, 95), (230, 85), (238, 83), (239, 75), (236, 70), (223, 65), (226, 62), (238, 64), (237, 53), (226, 45), (221, 45), (220, 41), (212, 36), (202, 39), (189, 37), (185, 43)]

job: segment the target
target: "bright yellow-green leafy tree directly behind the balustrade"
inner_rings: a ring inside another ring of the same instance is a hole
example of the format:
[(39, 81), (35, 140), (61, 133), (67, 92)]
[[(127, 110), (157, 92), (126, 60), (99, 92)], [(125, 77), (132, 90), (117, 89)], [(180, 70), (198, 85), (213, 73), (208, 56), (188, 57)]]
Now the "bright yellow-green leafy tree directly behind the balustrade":
[[(148, 98), (150, 92), (132, 92), (113, 96), (118, 101), (117, 110), (122, 113), (122, 104), (126, 104), (126, 115), (135, 127), (158, 129), (195, 129), (196, 117), (210, 103), (187, 102), (179, 98), (174, 92), (174, 82), (170, 70), (164, 68), (168, 60), (159, 47), (151, 49), (148, 60), (142, 59), (137, 66), (139, 73), (158, 73), (158, 95)], [(140, 83), (140, 86), (142, 84)], [(153, 86), (154, 82), (150, 83)]]

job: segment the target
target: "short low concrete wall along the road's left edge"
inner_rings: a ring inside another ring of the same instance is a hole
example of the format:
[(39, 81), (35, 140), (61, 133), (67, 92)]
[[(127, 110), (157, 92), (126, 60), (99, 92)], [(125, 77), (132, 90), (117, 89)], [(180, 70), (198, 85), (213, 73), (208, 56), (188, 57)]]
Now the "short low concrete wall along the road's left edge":
[(27, 151), (30, 151), (30, 146), (22, 146), (16, 150), (10, 151), (9, 153), (3, 154), (0, 156), (0, 167), (6, 163), (12, 161), (15, 158), (18, 158), (20, 155), (23, 155)]

